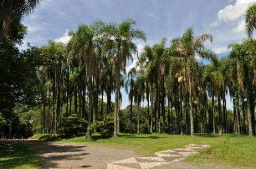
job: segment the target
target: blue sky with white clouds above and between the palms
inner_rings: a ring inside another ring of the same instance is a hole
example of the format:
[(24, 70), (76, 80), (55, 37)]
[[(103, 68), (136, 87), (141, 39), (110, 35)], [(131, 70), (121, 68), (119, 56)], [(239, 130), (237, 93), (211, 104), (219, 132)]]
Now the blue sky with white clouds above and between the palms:
[[(145, 45), (153, 45), (165, 37), (169, 45), (171, 39), (182, 36), (189, 26), (194, 25), (195, 35), (204, 32), (213, 35), (213, 42), (206, 42), (206, 47), (216, 52), (218, 57), (225, 57), (229, 43), (240, 43), (246, 37), (243, 14), (253, 1), (41, 0), (40, 6), (22, 21), (28, 27), (23, 42), (36, 46), (46, 45), (49, 39), (67, 43), (70, 39), (67, 32), (80, 24), (90, 24), (94, 20), (118, 24), (132, 18), (137, 23), (135, 27), (147, 36), (146, 42), (136, 42), (139, 54)], [(25, 48), (26, 45), (20, 46), (20, 49)], [(133, 62), (127, 62), (127, 72), (135, 67), (136, 61), (137, 56), (134, 56)], [(121, 108), (125, 108), (129, 104), (128, 96), (123, 89), (121, 92)], [(229, 97), (227, 108), (233, 109)]]

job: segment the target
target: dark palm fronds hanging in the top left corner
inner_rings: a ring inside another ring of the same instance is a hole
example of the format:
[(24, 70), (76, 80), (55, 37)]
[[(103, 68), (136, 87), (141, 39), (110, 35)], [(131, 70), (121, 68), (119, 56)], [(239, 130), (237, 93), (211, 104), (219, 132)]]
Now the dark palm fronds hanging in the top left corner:
[(0, 40), (6, 38), (13, 26), (18, 26), (24, 16), (29, 15), (39, 5), (40, 0), (0, 1)]

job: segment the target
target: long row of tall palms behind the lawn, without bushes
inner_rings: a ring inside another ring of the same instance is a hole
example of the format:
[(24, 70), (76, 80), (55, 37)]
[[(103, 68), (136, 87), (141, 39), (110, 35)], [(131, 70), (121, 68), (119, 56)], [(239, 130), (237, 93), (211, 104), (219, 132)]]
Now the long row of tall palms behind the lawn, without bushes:
[[(58, 133), (62, 105), (66, 104), (64, 116), (77, 113), (88, 120), (88, 125), (95, 123), (103, 113), (112, 112), (114, 105), (113, 137), (117, 137), (120, 89), (124, 87), (130, 101), (130, 132), (133, 132), (133, 104), (138, 108), (137, 132), (140, 132), (139, 110), (146, 98), (149, 133), (153, 132), (154, 126), (157, 133), (170, 133), (175, 126), (176, 133), (182, 134), (185, 126), (187, 134), (194, 135), (200, 126), (202, 132), (218, 130), (222, 135), (222, 130), (228, 132), (226, 95), (229, 93), (233, 99), (234, 132), (242, 132), (242, 111), (243, 132), (253, 135), (256, 41), (250, 37), (255, 28), (255, 15), (253, 18), (248, 13), (255, 11), (255, 6), (253, 4), (246, 15), (249, 38), (243, 39), (241, 44), (230, 44), (228, 58), (216, 58), (216, 54), (204, 46), (205, 41), (213, 40), (212, 35), (195, 35), (191, 26), (181, 37), (172, 39), (170, 46), (166, 46), (167, 39), (145, 46), (137, 63), (140, 69), (132, 68), (126, 73), (127, 60), (137, 53), (134, 40), (146, 41), (144, 32), (135, 29), (135, 21), (131, 19), (118, 25), (102, 21), (80, 25), (69, 32), (71, 40), (67, 45), (49, 41), (41, 47), (46, 59), (41, 69), (42, 131), (45, 131), (47, 106), (48, 110), (52, 108), (50, 132)], [(196, 58), (208, 59), (210, 64), (198, 63)], [(113, 92), (115, 104), (111, 103)], [(107, 96), (106, 112), (103, 112), (104, 94)], [(99, 103), (101, 111), (98, 111)], [(91, 137), (91, 132), (87, 130), (87, 138)]]

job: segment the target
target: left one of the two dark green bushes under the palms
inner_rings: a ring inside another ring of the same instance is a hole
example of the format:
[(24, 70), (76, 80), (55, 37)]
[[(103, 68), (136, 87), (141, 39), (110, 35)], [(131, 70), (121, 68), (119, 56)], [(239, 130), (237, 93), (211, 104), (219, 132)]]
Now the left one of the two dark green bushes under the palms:
[(78, 118), (77, 114), (72, 114), (67, 118), (63, 118), (61, 127), (59, 129), (60, 135), (76, 136), (82, 132), (86, 123), (87, 121), (82, 118)]

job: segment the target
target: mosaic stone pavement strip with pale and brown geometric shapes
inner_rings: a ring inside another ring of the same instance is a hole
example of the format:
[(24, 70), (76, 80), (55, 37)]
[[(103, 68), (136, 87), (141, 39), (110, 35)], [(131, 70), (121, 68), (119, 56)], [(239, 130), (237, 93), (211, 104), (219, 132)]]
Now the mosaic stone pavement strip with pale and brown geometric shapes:
[(153, 154), (135, 158), (128, 158), (114, 163), (105, 164), (104, 169), (154, 169), (163, 164), (179, 162), (187, 156), (196, 154), (198, 150), (203, 150), (209, 145), (189, 144), (181, 149), (169, 149), (158, 151)]

